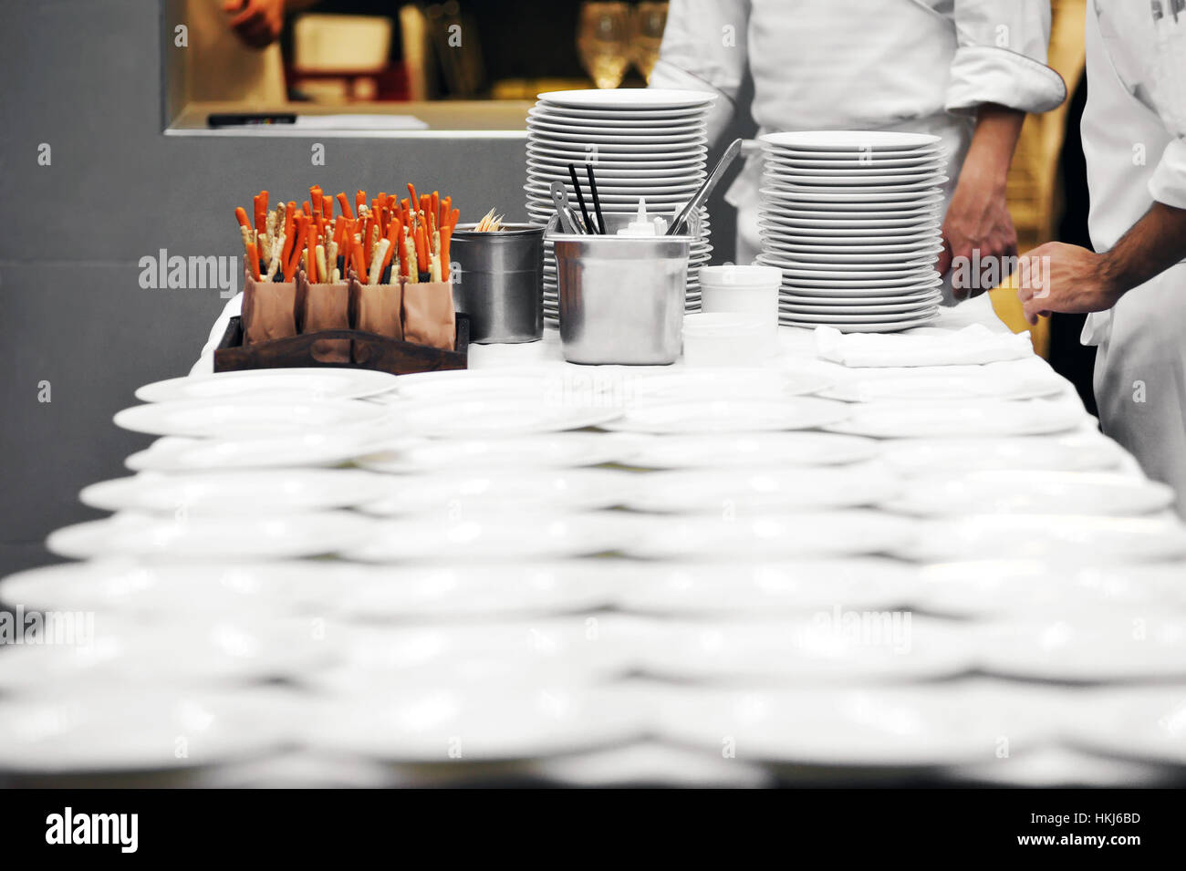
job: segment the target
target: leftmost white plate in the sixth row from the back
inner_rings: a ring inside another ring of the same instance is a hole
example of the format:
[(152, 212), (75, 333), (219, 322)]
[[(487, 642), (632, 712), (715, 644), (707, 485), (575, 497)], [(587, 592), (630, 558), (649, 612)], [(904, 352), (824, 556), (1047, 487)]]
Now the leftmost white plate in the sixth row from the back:
[[(9, 575), (0, 601), (26, 609), (108, 614), (196, 615), (298, 613), (321, 615), (371, 572), (342, 562), (138, 562), (62, 563)], [(384, 582), (388, 578), (383, 578)]]

